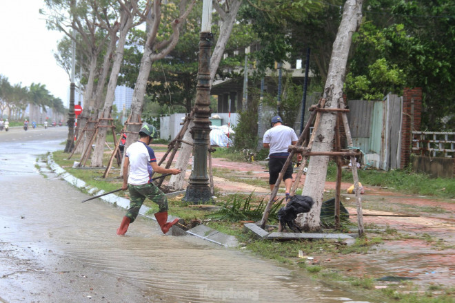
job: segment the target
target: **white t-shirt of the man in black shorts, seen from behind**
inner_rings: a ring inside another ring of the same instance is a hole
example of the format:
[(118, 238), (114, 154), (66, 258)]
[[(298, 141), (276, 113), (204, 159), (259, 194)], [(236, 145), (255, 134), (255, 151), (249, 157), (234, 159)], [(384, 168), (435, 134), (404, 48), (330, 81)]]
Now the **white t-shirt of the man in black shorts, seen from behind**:
[(299, 138), (297, 138), (294, 129), (285, 125), (276, 125), (265, 132), (262, 143), (270, 144), (270, 156), (272, 154), (287, 153), (287, 147), (292, 145), (292, 141), (296, 140), (299, 140)]

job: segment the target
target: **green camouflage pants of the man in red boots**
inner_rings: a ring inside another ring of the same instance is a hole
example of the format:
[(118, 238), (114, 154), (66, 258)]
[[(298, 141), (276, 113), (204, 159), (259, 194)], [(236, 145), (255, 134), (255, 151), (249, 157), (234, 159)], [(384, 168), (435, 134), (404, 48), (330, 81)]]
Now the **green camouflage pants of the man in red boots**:
[(145, 198), (148, 198), (159, 205), (159, 212), (168, 211), (168, 198), (166, 198), (163, 191), (153, 183), (128, 185), (128, 191), (130, 191), (130, 208), (125, 216), (130, 218), (131, 223), (134, 222), (137, 215), (139, 215), (139, 209), (141, 209)]

